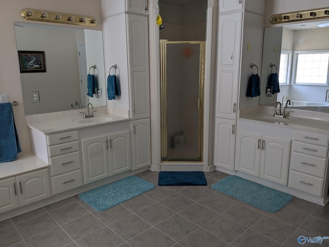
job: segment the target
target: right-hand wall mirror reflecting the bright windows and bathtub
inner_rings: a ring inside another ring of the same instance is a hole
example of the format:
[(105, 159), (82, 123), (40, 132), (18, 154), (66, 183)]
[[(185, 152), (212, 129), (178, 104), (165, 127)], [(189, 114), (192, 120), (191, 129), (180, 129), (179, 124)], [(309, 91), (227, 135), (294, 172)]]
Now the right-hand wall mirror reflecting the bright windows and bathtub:
[[(261, 105), (329, 112), (329, 21), (264, 30)], [(271, 64), (276, 65), (271, 66)], [(271, 73), (279, 74), (280, 93), (266, 95)]]

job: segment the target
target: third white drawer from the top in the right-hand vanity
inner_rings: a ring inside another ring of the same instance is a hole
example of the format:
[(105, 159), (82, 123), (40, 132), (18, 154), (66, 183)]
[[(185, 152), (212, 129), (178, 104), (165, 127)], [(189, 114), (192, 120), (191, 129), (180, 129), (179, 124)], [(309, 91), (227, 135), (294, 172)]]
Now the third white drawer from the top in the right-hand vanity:
[(302, 153), (291, 153), (290, 168), (310, 175), (324, 178), (327, 160)]

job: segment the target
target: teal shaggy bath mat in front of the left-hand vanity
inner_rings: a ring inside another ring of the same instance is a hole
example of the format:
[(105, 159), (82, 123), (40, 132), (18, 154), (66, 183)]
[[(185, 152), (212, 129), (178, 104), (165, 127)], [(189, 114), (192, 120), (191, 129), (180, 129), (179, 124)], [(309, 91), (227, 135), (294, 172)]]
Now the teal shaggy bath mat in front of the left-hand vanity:
[(104, 211), (155, 187), (154, 184), (133, 175), (82, 192), (79, 198), (97, 211)]

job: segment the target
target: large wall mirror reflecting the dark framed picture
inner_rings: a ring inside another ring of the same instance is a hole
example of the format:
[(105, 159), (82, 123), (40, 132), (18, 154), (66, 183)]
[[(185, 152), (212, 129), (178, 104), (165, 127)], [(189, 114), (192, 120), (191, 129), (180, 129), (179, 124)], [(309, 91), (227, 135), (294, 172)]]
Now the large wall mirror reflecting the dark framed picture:
[[(46, 72), (21, 73), (25, 115), (106, 105), (102, 31), (14, 23), (17, 51), (43, 51)], [(17, 54), (18, 60), (18, 54)], [(96, 65), (94, 68), (94, 65)], [(87, 75), (97, 92), (87, 96)]]

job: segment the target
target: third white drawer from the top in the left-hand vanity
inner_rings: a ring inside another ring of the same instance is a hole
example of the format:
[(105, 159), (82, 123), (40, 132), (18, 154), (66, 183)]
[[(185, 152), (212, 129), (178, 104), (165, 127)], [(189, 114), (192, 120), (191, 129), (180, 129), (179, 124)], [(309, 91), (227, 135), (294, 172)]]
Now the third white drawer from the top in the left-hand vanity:
[(49, 163), (52, 176), (80, 169), (80, 151), (49, 158)]

